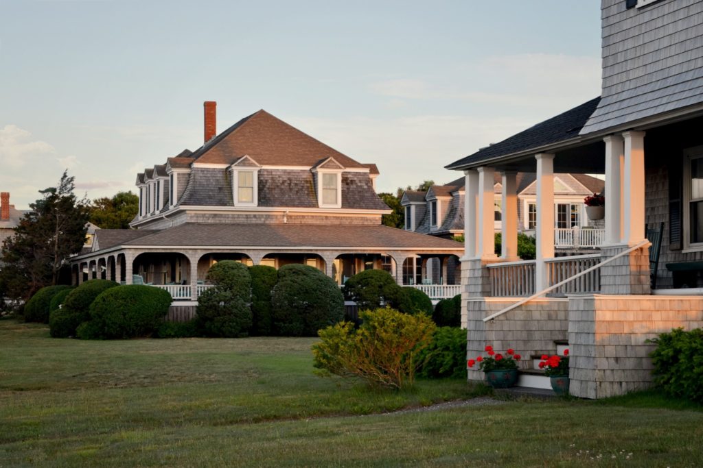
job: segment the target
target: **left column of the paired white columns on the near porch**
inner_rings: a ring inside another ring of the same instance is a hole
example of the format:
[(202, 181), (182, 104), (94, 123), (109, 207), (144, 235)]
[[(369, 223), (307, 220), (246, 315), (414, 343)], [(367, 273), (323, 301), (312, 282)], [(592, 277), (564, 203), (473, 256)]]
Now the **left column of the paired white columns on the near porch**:
[(621, 231), (621, 173), (624, 140), (620, 135), (609, 135), (605, 141), (605, 243), (610, 246), (622, 241)]

